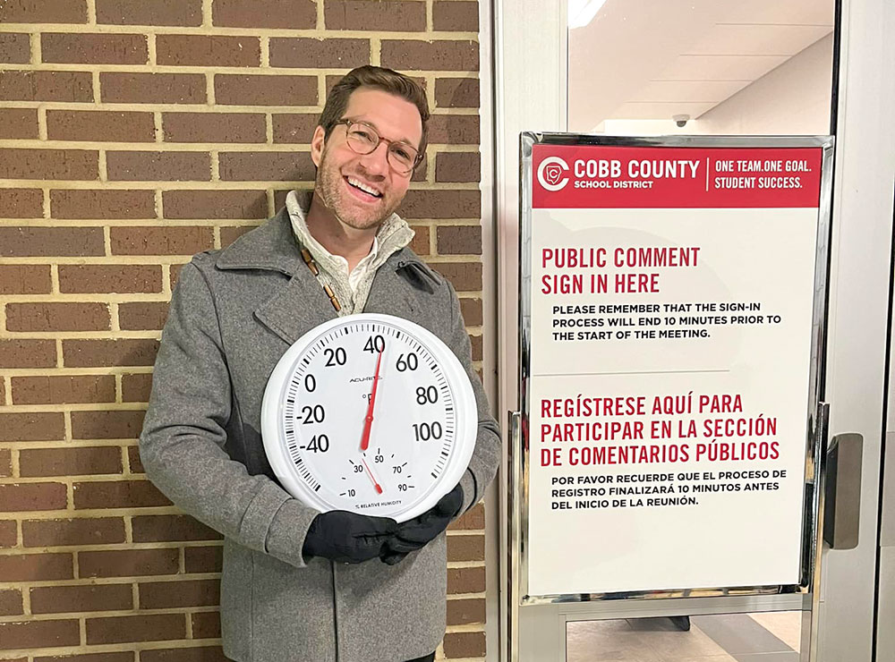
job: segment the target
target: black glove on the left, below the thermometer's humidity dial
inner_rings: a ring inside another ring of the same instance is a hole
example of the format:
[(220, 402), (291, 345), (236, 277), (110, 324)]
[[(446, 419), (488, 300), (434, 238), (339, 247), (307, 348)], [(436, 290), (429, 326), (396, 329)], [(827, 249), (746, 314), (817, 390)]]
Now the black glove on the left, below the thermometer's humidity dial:
[(380, 556), (397, 522), (345, 510), (320, 513), (304, 538), (305, 556), (324, 556), (338, 563), (359, 564)]

